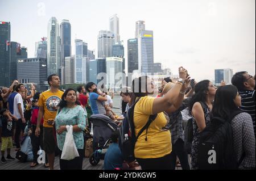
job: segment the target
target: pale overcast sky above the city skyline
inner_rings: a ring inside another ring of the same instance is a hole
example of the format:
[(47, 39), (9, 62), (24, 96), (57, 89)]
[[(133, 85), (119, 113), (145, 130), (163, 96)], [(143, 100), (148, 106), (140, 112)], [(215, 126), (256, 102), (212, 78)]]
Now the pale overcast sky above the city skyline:
[(177, 74), (182, 65), (197, 80), (214, 79), (214, 69), (231, 68), (255, 74), (255, 0), (0, 0), (0, 21), (11, 22), (11, 41), (28, 48), (47, 36), (48, 20), (68, 19), (75, 38), (96, 50), (100, 30), (109, 17), (119, 16), (125, 46), (135, 36), (135, 22), (144, 20), (154, 31), (154, 62)]

